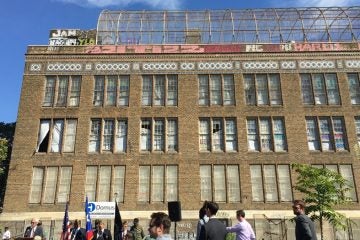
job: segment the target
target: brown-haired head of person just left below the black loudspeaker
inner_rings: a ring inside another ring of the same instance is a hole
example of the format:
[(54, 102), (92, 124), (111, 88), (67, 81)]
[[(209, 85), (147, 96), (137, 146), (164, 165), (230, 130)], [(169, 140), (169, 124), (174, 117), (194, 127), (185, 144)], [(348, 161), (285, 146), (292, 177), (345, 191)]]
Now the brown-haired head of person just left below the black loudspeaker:
[(149, 233), (152, 238), (157, 238), (163, 234), (169, 234), (171, 220), (169, 215), (164, 212), (154, 212), (150, 216)]

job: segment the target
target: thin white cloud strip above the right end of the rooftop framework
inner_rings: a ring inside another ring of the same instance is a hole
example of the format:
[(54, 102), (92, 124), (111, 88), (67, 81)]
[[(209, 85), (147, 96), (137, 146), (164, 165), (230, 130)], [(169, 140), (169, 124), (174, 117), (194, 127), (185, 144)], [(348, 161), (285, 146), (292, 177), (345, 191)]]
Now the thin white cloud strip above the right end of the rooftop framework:
[(347, 7), (357, 6), (358, 0), (288, 0), (279, 6), (278, 0), (271, 0), (274, 7)]

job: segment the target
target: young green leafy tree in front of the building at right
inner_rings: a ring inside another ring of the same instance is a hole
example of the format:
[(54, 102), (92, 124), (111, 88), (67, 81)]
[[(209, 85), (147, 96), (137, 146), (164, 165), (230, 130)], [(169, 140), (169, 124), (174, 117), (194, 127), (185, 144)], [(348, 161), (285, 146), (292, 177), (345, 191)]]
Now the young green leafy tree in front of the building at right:
[(346, 216), (335, 211), (334, 207), (349, 202), (347, 193), (352, 186), (340, 174), (327, 168), (307, 164), (292, 164), (298, 173), (295, 189), (304, 194), (307, 207), (305, 212), (312, 220), (318, 220), (321, 240), (323, 223), (327, 220), (335, 229), (346, 230)]

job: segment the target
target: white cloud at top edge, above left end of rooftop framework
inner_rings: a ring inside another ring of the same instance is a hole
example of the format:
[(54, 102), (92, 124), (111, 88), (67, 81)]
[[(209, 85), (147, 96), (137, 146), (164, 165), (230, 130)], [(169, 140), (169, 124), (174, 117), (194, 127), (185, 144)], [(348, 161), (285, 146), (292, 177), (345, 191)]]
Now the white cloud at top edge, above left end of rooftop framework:
[(134, 4), (145, 4), (153, 9), (179, 9), (181, 0), (56, 0), (85, 7), (128, 7)]

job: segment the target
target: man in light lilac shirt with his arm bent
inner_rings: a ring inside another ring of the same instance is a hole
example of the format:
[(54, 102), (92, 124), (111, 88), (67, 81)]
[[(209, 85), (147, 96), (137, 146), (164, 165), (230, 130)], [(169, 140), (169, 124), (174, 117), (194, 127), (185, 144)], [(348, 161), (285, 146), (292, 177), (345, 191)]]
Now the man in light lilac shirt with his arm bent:
[(245, 219), (245, 211), (237, 210), (236, 219), (239, 221), (232, 227), (227, 227), (227, 232), (236, 233), (236, 240), (255, 240), (255, 233), (250, 223)]

